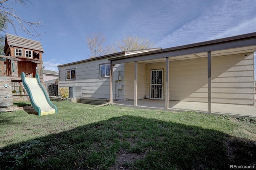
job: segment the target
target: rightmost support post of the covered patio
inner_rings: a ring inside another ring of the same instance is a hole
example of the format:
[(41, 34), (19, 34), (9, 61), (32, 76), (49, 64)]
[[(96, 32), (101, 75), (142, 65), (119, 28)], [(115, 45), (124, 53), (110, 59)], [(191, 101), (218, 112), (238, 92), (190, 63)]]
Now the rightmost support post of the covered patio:
[(207, 52), (207, 70), (208, 70), (208, 112), (212, 112), (212, 70), (211, 70), (211, 52)]

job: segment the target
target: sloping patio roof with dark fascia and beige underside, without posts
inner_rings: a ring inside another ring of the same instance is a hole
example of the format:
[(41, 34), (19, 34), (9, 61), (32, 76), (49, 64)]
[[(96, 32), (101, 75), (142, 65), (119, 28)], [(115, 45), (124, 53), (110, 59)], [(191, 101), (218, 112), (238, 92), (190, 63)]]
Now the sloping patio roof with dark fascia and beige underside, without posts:
[(211, 57), (233, 54), (254, 53), (256, 51), (256, 32), (167, 49), (160, 49), (141, 54), (110, 58), (112, 65), (120, 63), (159, 63), (188, 59), (207, 58), (207, 52), (211, 51)]

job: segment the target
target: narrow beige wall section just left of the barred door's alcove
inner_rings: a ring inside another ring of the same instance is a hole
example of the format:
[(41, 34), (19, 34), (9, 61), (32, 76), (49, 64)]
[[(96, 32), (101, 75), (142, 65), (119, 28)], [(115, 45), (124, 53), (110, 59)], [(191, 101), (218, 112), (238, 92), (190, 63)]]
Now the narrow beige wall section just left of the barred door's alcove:
[[(134, 63), (125, 63), (124, 99), (134, 99)], [(145, 92), (145, 64), (138, 64), (137, 80), (138, 99), (146, 95)]]

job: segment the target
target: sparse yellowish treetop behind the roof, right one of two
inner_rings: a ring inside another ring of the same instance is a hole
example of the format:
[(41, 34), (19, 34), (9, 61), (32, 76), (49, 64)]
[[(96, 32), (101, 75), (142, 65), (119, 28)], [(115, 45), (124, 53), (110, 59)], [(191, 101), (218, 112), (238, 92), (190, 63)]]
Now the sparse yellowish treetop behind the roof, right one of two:
[(132, 37), (130, 35), (126, 35), (122, 41), (117, 42), (116, 46), (121, 51), (132, 51), (152, 48), (153, 42), (149, 39), (140, 38), (138, 36)]

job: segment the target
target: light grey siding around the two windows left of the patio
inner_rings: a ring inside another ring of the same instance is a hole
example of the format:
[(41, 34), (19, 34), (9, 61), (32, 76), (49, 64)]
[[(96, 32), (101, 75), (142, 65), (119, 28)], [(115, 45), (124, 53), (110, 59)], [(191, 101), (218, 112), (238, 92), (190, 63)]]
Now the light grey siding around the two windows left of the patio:
[[(99, 65), (109, 63), (108, 59), (100, 59), (85, 63), (78, 63), (60, 67), (60, 87), (78, 86), (82, 87), (82, 97), (109, 98), (109, 78), (99, 78)], [(66, 70), (76, 68), (76, 79), (66, 80)], [(116, 64), (114, 71), (124, 74), (124, 64)], [(114, 83), (113, 83), (114, 84)], [(116, 83), (118, 84), (118, 82)], [(122, 81), (119, 81), (122, 84)], [(115, 86), (113, 85), (113, 88)], [(116, 86), (116, 94), (118, 94)], [(122, 90), (119, 90), (122, 91)], [(121, 93), (121, 92), (120, 92)], [(116, 99), (123, 99), (116, 97)]]

